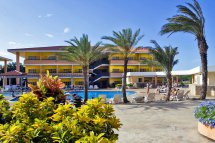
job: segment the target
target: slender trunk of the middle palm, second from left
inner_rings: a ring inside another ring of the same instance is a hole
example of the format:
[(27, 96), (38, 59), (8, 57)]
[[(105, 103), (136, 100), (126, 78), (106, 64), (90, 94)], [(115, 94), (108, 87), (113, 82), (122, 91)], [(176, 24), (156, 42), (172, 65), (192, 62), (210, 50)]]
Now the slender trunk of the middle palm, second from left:
[(128, 103), (128, 99), (126, 96), (126, 78), (127, 78), (127, 66), (128, 66), (128, 58), (124, 59), (124, 73), (123, 73), (123, 83), (122, 83), (122, 95), (123, 95), (123, 102)]

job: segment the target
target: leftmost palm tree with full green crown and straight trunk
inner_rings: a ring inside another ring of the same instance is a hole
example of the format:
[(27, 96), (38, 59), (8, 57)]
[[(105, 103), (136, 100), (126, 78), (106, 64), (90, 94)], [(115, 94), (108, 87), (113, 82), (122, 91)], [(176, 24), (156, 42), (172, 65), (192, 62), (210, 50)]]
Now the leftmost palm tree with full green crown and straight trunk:
[(86, 102), (88, 100), (89, 65), (102, 57), (103, 48), (100, 47), (101, 42), (92, 46), (88, 35), (85, 34), (80, 39), (74, 37), (66, 42), (71, 46), (65, 47), (65, 52), (61, 56), (63, 59), (76, 62), (82, 66), (84, 76), (84, 102)]

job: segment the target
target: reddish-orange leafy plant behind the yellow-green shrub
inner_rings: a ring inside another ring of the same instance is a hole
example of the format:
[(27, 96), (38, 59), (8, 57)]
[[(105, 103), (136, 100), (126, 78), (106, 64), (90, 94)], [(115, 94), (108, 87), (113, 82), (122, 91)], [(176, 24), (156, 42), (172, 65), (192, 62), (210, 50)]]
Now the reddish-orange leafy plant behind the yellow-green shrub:
[(65, 101), (66, 96), (63, 91), (64, 83), (57, 76), (53, 77), (50, 75), (49, 71), (45, 75), (40, 75), (36, 86), (31, 84), (28, 86), (39, 100), (53, 97), (56, 103)]

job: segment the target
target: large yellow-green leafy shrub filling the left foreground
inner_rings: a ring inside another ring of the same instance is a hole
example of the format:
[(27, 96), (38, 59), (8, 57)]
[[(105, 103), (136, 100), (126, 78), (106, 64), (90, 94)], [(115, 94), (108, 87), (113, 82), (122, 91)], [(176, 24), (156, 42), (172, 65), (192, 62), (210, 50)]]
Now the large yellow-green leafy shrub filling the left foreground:
[(53, 97), (39, 101), (33, 93), (23, 94), (11, 110), (8, 105), (0, 110), (0, 114), (9, 112), (12, 117), (0, 123), (0, 142), (115, 142), (118, 135), (114, 130), (120, 128), (120, 121), (112, 105), (100, 100), (75, 108), (71, 104), (55, 104)]

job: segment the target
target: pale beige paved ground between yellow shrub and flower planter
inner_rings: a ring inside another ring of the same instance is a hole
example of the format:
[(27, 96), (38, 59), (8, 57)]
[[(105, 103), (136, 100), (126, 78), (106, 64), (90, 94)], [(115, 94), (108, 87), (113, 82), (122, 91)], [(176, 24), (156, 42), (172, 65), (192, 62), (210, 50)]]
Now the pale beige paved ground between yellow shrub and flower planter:
[(114, 105), (123, 124), (119, 143), (213, 143), (197, 131), (200, 101)]

